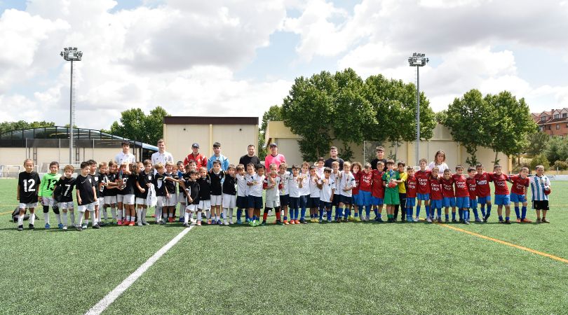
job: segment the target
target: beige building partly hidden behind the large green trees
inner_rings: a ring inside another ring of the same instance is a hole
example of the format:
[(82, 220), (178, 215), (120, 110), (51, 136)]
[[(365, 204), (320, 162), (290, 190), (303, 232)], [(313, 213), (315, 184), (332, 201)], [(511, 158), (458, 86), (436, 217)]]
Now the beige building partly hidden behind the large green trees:
[[(299, 136), (290, 132), (290, 128), (286, 127), (282, 121), (271, 121), (266, 127), (266, 144), (275, 142), (278, 144), (278, 152), (282, 153), (286, 157), (288, 165), (292, 164), (302, 164), (302, 153), (299, 152), (299, 146), (297, 139)], [(337, 146), (341, 150), (342, 143), (339, 141), (332, 143), (333, 146)], [(353, 161), (364, 162), (367, 157), (369, 162), (374, 158), (374, 148), (376, 146), (384, 146), (385, 156), (394, 158), (396, 160), (404, 160), (407, 165), (414, 165), (416, 160), (416, 145), (415, 142), (399, 142), (393, 144), (391, 142), (377, 142), (377, 141), (365, 141), (363, 145), (351, 144), (351, 150), (353, 151)], [(428, 141), (420, 142), (420, 155), (421, 158), (426, 158), (428, 161), (433, 161), (436, 151), (442, 150), (446, 153), (446, 163), (452, 169), (456, 165), (466, 164), (466, 159), (468, 158), (468, 153), (464, 146), (460, 146), (459, 142), (452, 139), (452, 134), (444, 125), (437, 125), (433, 132), (432, 139)], [(495, 158), (495, 153), (489, 148), (478, 148), (476, 154), (478, 162), (485, 165), (485, 169), (491, 170), (493, 165), (493, 160)], [(328, 158), (327, 155), (325, 158)], [(340, 155), (341, 157), (341, 155)], [(503, 153), (499, 153), (499, 164), (503, 166), (503, 172), (509, 172), (512, 169), (512, 161)]]

